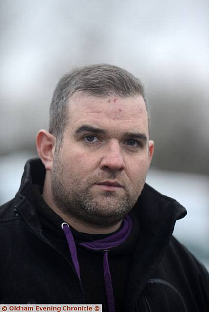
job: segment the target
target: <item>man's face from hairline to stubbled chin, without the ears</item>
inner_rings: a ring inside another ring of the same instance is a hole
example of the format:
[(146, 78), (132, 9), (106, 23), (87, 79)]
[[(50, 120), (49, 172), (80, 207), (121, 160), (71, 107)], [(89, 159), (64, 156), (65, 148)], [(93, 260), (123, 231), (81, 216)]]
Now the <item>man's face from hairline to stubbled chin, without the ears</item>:
[(63, 213), (88, 224), (117, 223), (136, 203), (153, 153), (144, 100), (77, 92), (68, 113), (53, 158), (53, 200)]

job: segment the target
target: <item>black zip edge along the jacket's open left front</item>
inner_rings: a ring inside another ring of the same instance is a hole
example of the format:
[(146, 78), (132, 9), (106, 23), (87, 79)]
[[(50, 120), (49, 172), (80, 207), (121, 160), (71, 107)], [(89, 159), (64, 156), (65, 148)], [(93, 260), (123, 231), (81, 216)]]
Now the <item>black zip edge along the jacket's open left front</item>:
[(32, 232), (34, 235), (36, 235), (37, 237), (39, 237), (39, 239), (41, 239), (46, 245), (48, 245), (49, 247), (51, 247), (51, 249), (53, 249), (54, 251), (56, 251), (57, 254), (59, 254), (63, 260), (67, 263), (67, 265), (70, 267), (71, 271), (73, 272), (78, 284), (79, 284), (79, 287), (81, 288), (81, 291), (82, 291), (82, 296), (83, 296), (83, 299), (84, 299), (84, 303), (86, 302), (86, 299), (85, 299), (85, 295), (84, 295), (84, 290), (83, 290), (83, 286), (82, 286), (82, 283), (80, 281), (80, 279), (78, 278), (72, 264), (65, 258), (63, 257), (63, 254), (61, 252), (59, 252), (59, 250), (57, 250), (54, 246), (52, 246), (51, 244), (49, 244), (41, 235), (37, 234), (25, 221), (24, 219), (22, 218), (20, 212), (18, 211), (17, 207), (14, 208), (14, 213), (15, 215), (21, 220), (22, 224), (30, 230), (30, 232)]

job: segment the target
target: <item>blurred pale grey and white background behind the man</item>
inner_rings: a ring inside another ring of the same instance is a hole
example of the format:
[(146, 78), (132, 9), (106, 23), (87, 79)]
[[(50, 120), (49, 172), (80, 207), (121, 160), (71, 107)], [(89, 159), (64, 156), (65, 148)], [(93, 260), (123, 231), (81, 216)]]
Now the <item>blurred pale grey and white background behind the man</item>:
[(48, 128), (58, 79), (110, 63), (141, 79), (156, 144), (147, 182), (188, 210), (174, 235), (209, 270), (209, 1), (1, 0), (0, 203)]

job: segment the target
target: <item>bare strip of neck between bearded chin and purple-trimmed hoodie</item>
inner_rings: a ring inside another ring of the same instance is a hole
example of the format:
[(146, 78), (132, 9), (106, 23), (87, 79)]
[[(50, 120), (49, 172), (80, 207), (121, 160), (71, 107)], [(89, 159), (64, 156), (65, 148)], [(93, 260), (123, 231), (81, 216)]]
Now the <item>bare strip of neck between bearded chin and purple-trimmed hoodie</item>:
[[(46, 179), (47, 179), (47, 174), (46, 174)], [(84, 221), (78, 220), (72, 215), (66, 215), (63, 213), (57, 205), (53, 201), (52, 193), (51, 193), (51, 188), (47, 187), (47, 185), (50, 185), (49, 183), (46, 182), (44, 183), (43, 187), (43, 194), (42, 197), (47, 203), (47, 205), (57, 214), (59, 215), (65, 222), (67, 222), (70, 226), (72, 226), (75, 230), (78, 232), (83, 232), (83, 233), (88, 233), (88, 234), (110, 234), (112, 232), (117, 231), (122, 223), (122, 220), (117, 222), (116, 224), (109, 225), (106, 227), (98, 227), (94, 226), (92, 224), (85, 223)]]

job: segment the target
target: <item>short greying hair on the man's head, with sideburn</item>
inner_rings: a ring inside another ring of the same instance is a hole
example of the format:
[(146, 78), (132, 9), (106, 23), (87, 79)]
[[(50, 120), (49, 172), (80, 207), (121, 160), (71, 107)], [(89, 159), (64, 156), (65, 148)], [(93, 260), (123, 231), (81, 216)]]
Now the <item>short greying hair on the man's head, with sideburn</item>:
[(49, 132), (61, 143), (68, 121), (69, 98), (77, 91), (96, 97), (118, 95), (126, 98), (141, 95), (145, 101), (150, 125), (150, 112), (144, 87), (134, 75), (117, 66), (96, 64), (76, 68), (58, 82), (50, 105)]

